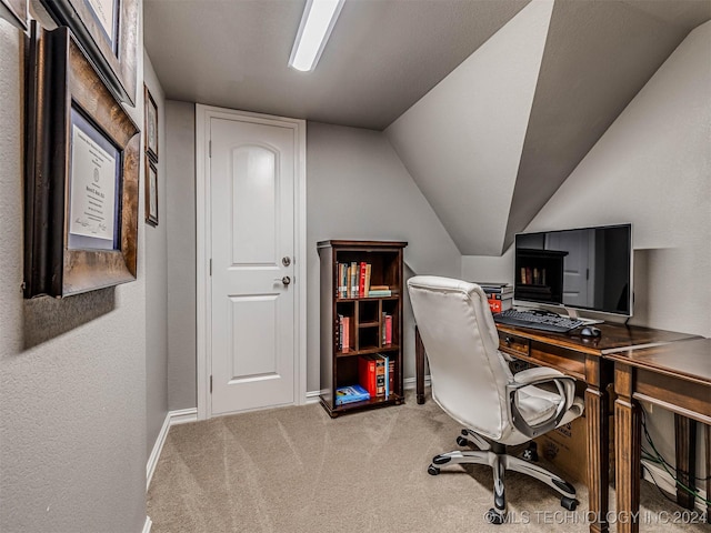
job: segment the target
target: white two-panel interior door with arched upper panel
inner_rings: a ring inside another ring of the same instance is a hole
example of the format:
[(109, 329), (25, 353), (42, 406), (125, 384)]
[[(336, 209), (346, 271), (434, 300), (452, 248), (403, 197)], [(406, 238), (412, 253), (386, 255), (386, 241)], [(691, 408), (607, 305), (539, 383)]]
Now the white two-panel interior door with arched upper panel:
[(211, 118), (211, 414), (294, 402), (297, 132)]

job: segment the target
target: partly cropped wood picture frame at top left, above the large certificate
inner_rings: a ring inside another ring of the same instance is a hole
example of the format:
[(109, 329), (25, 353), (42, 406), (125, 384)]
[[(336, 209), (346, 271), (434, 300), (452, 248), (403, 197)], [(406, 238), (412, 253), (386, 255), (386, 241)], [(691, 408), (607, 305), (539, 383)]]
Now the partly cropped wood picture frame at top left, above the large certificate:
[(108, 31), (101, 17), (92, 8), (96, 0), (40, 1), (58, 26), (69, 27), (114, 97), (134, 105), (138, 0), (111, 0), (113, 12), (109, 17), (112, 19), (112, 28)]

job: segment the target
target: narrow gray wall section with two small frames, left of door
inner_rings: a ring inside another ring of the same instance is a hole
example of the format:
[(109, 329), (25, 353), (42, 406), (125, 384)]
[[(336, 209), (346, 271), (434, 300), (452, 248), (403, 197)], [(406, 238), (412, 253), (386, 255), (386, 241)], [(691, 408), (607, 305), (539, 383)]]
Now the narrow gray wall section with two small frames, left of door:
[[(143, 77), (158, 107), (158, 225), (146, 228), (146, 415), (150, 455), (168, 414), (168, 240), (166, 217), (166, 97), (150, 58), (143, 52)], [(142, 94), (141, 94), (142, 98)], [(142, 193), (144, 192), (141, 191)]]

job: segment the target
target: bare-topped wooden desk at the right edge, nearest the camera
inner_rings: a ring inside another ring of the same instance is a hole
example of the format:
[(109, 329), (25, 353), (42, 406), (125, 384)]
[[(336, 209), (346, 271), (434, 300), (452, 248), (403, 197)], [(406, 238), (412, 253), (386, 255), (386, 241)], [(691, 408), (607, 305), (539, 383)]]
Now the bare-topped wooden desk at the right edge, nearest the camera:
[[(677, 477), (687, 485), (695, 483), (694, 421), (707, 424), (707, 494), (711, 494), (708, 479), (711, 470), (711, 339), (629, 350), (605, 359), (614, 361), (614, 391), (618, 394), (614, 401), (617, 510), (620, 516), (629, 517), (618, 523), (618, 531), (638, 532), (642, 440), (639, 401), (674, 413), (674, 429), (681, 435), (677, 442)], [(678, 490), (677, 502), (693, 507), (693, 497), (685, 491)], [(711, 509), (707, 509), (709, 511)]]

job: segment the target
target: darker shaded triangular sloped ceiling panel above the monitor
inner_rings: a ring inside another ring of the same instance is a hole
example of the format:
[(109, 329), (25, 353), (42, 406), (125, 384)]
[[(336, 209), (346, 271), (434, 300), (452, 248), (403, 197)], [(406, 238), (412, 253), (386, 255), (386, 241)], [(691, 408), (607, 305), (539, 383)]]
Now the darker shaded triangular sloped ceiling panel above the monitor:
[(555, 2), (502, 250), (710, 18), (708, 1)]

